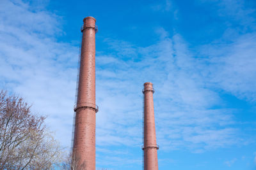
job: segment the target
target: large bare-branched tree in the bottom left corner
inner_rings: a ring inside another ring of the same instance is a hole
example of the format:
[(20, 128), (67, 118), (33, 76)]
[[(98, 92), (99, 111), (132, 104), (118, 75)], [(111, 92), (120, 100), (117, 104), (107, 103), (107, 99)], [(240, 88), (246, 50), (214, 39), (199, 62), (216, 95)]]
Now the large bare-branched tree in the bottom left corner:
[(52, 169), (62, 149), (46, 131), (45, 117), (24, 99), (0, 92), (0, 169)]

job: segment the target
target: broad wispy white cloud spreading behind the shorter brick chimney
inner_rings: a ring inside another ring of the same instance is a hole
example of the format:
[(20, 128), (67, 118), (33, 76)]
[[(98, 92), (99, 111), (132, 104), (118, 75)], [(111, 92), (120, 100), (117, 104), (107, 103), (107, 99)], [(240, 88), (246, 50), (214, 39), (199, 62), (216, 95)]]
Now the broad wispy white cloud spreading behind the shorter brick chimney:
[[(140, 57), (140, 60), (131, 60), (127, 53), (124, 55), (127, 59), (116, 57), (118, 60), (113, 60), (111, 67), (107, 66), (109, 63), (104, 67), (100, 60), (104, 57), (108, 60), (108, 54), (99, 57), (100, 67), (115, 77), (98, 76), (98, 102), (103, 106), (97, 116), (97, 122), (100, 122), (97, 131), (102, 131), (97, 134), (100, 136), (97, 137), (98, 143), (139, 145), (141, 89), (145, 81), (152, 81), (156, 89), (157, 141), (164, 150), (182, 148), (204, 152), (239, 143), (240, 139), (236, 137), (238, 129), (229, 127), (234, 125), (232, 110), (212, 109), (221, 103), (221, 99), (205, 83), (205, 76), (201, 73), (205, 63), (193, 57), (179, 35), (172, 39), (163, 36), (159, 42), (147, 47), (127, 45), (114, 39), (109, 41), (113, 48), (111, 55), (120, 53), (119, 50), (124, 52), (125, 45), (126, 49), (131, 48), (127, 51), (136, 53), (134, 58)], [(124, 66), (115, 65), (122, 60), (126, 60)]]

